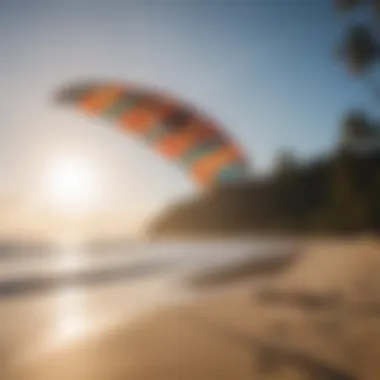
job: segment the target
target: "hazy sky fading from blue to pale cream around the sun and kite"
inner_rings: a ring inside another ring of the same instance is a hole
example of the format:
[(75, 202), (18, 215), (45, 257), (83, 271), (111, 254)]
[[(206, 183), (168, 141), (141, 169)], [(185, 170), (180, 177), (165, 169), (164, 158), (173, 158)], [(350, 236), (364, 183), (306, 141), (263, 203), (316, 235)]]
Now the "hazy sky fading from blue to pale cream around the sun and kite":
[(136, 141), (54, 105), (53, 91), (76, 79), (170, 90), (220, 121), (254, 172), (270, 170), (280, 148), (304, 158), (330, 149), (342, 113), (369, 100), (334, 60), (341, 23), (332, 3), (3, 0), (4, 199), (40, 210), (41, 173), (65, 157), (97, 167), (96, 211), (120, 214), (131, 229), (196, 191), (185, 173)]

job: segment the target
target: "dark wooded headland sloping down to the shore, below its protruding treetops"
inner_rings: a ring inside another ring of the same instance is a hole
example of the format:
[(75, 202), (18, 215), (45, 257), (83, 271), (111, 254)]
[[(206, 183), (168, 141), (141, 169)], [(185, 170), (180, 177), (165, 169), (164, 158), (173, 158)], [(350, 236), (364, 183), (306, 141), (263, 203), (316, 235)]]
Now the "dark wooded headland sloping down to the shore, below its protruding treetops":
[(380, 232), (380, 151), (341, 148), (173, 205), (151, 235)]

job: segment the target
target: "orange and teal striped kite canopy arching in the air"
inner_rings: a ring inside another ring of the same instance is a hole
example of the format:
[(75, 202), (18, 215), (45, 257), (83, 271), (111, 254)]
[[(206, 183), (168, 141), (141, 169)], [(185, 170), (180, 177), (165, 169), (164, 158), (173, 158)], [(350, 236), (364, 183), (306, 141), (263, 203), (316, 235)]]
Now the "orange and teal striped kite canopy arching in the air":
[(241, 149), (218, 123), (165, 92), (91, 81), (59, 89), (55, 102), (137, 137), (204, 187), (232, 183), (248, 173)]

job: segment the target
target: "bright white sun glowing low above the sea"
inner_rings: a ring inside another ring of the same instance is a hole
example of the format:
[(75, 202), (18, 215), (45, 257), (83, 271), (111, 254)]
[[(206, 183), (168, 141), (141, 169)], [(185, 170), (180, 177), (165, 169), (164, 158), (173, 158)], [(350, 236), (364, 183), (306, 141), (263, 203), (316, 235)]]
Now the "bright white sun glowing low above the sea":
[(83, 157), (52, 160), (44, 175), (44, 201), (59, 213), (93, 211), (98, 201), (99, 181), (94, 165)]

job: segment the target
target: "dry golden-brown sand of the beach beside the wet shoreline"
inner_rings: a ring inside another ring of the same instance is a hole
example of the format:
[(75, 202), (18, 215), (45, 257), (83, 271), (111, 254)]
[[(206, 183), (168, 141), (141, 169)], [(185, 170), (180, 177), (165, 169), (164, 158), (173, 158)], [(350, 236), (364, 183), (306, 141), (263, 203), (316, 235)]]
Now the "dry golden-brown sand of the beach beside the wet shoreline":
[(304, 246), (266, 282), (204, 289), (201, 299), (51, 353), (10, 378), (380, 379), (380, 243)]

